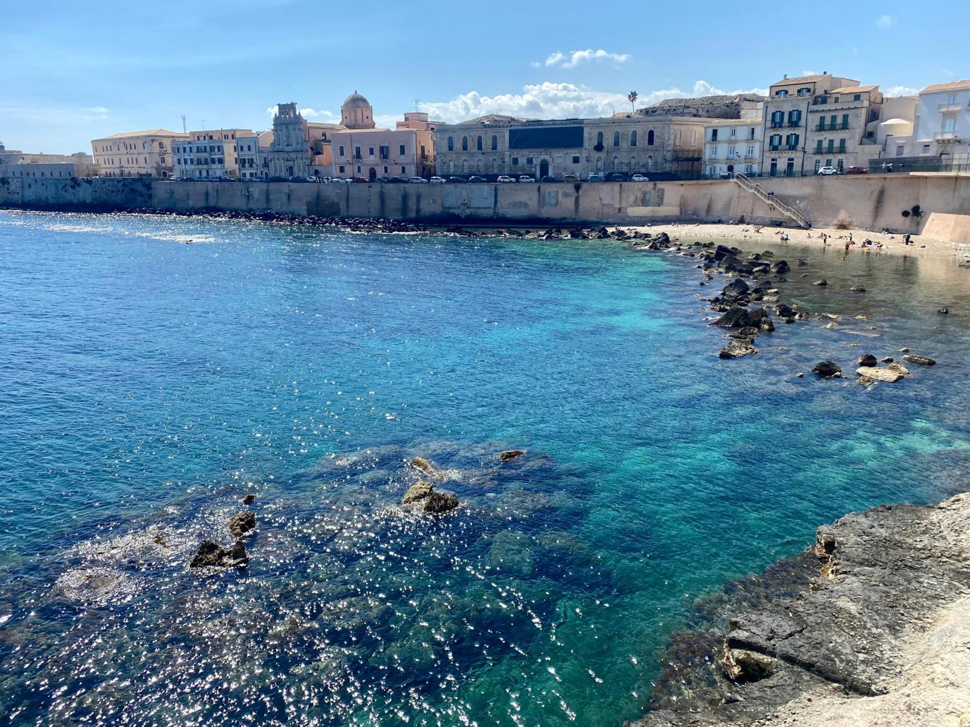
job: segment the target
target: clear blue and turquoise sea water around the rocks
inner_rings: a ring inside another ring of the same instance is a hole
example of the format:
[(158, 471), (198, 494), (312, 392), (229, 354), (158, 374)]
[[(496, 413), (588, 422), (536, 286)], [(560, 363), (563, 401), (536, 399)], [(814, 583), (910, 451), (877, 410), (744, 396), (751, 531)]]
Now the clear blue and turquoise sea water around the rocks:
[[(965, 489), (967, 271), (832, 252), (780, 256), (810, 263), (787, 300), (840, 328), (722, 362), (693, 262), (619, 242), (0, 212), (3, 713), (636, 716), (699, 594), (850, 510)], [(792, 377), (901, 346), (940, 364)], [(459, 513), (397, 508), (416, 455)], [(190, 571), (246, 492), (249, 566)]]

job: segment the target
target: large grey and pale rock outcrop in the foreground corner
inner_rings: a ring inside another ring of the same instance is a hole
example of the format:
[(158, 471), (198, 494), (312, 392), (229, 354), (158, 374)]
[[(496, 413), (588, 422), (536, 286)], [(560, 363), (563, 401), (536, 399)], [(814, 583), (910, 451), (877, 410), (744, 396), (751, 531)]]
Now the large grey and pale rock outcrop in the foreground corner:
[(631, 727), (970, 724), (970, 492), (819, 528), (699, 602)]

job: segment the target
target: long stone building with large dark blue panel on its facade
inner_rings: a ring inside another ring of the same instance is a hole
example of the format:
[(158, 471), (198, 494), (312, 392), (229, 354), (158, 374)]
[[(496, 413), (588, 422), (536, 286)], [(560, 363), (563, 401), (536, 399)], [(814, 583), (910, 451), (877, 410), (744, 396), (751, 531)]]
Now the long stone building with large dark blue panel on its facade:
[(443, 176), (694, 176), (701, 171), (704, 126), (711, 120), (630, 114), (541, 121), (482, 116), (436, 127), (436, 169)]

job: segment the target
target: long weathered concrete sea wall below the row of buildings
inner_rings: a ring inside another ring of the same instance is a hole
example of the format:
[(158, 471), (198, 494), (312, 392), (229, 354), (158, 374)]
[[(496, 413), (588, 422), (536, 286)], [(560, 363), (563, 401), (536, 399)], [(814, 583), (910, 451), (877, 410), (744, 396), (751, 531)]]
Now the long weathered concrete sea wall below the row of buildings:
[[(762, 178), (816, 227), (918, 233), (970, 229), (970, 175), (865, 174)], [(0, 180), (0, 205), (61, 208), (274, 210), (463, 224), (787, 220), (731, 180), (552, 184), (311, 184), (147, 179)], [(902, 215), (919, 205), (921, 215)], [(943, 218), (939, 215), (956, 215)], [(944, 222), (946, 219), (946, 222)]]

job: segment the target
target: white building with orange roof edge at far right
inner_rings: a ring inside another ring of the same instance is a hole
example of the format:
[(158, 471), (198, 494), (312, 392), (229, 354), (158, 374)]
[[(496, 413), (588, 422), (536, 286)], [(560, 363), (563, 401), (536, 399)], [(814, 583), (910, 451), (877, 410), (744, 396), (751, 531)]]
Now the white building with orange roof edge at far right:
[(948, 155), (965, 162), (970, 152), (970, 80), (934, 83), (920, 91), (913, 155)]

